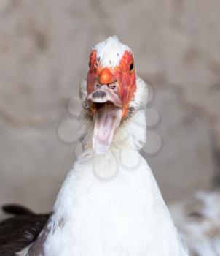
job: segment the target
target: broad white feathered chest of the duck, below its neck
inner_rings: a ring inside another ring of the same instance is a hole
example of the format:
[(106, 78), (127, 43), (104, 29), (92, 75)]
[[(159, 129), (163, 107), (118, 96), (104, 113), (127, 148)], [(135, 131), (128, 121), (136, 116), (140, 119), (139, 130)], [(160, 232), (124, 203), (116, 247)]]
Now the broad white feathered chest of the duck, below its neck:
[(135, 171), (115, 161), (107, 168), (99, 159), (97, 170), (94, 159), (76, 163), (46, 227), (45, 255), (184, 255), (144, 159)]

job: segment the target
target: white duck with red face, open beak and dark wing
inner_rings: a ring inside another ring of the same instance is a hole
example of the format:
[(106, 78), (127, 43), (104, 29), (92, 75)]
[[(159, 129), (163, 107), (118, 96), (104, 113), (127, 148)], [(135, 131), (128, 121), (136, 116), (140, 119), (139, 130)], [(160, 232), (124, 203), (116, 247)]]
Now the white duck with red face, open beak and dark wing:
[(189, 255), (140, 153), (148, 90), (132, 50), (108, 37), (88, 62), (79, 86), (82, 154), (50, 214), (4, 206), (16, 216), (0, 224), (0, 255)]

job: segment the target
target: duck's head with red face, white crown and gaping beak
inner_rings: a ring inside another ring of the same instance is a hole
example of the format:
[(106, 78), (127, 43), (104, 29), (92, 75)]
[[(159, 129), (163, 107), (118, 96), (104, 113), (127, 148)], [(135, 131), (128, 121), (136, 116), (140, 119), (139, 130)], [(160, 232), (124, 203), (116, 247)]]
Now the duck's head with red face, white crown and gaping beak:
[(93, 149), (97, 154), (103, 154), (109, 148), (122, 120), (138, 106), (135, 102), (137, 87), (130, 48), (116, 36), (95, 45), (90, 53), (81, 98), (84, 108), (93, 117)]

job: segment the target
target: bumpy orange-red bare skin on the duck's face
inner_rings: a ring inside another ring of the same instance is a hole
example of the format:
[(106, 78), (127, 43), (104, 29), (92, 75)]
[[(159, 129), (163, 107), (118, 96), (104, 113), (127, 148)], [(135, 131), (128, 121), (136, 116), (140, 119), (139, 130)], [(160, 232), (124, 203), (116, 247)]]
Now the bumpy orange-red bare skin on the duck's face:
[[(99, 64), (96, 50), (90, 54), (90, 70), (87, 74), (87, 93), (95, 91), (95, 86), (111, 86), (114, 84), (115, 93), (122, 102), (122, 117), (127, 116), (130, 101), (136, 91), (135, 67), (133, 54), (125, 50), (117, 67), (102, 67)], [(93, 105), (91, 105), (93, 114)]]

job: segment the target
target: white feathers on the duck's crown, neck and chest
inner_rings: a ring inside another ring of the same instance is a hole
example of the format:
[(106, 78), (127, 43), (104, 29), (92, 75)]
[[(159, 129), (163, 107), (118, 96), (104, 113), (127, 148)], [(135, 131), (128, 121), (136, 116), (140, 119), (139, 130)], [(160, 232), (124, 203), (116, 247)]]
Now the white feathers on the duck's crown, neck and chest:
[[(96, 49), (101, 63), (114, 67), (130, 48), (110, 37)], [(136, 85), (130, 102), (135, 111), (122, 120), (109, 149), (99, 155), (93, 151), (93, 119), (87, 112), (86, 83), (82, 82), (85, 109), (79, 132), (85, 151), (68, 174), (50, 222), (39, 236), (44, 240), (43, 245), (39, 243), (39, 255), (188, 255), (152, 170), (138, 152), (146, 139), (147, 89), (140, 78)]]

